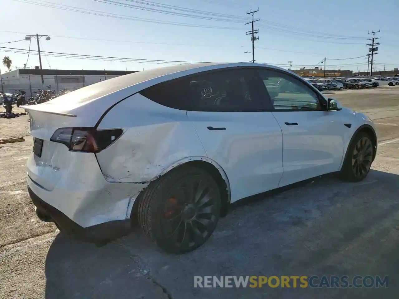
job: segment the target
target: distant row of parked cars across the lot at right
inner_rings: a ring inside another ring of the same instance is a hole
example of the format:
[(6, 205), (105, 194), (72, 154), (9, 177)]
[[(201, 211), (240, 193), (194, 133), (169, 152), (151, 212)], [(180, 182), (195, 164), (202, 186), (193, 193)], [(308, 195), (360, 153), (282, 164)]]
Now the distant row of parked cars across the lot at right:
[(380, 85), (395, 86), (399, 85), (399, 77), (388, 78), (304, 78), (318, 90), (336, 90), (336, 89), (359, 89), (366, 87), (378, 87)]

